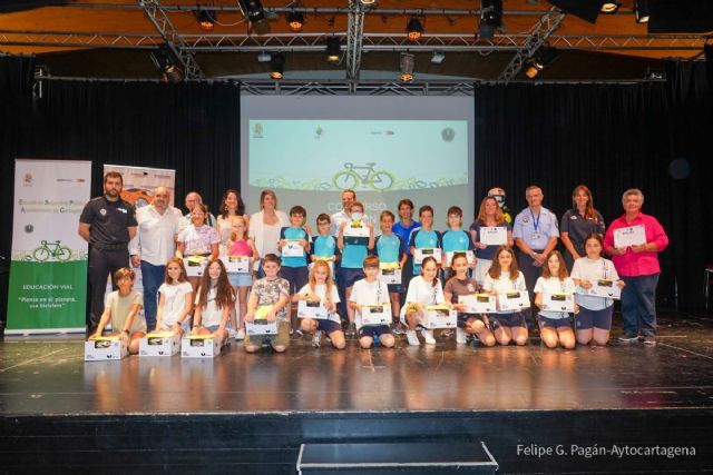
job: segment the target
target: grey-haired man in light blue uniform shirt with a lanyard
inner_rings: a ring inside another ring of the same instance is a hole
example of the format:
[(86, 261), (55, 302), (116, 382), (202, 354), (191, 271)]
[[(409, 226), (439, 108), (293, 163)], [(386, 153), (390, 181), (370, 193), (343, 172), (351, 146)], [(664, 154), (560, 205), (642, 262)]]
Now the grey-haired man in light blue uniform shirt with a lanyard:
[(522, 275), (530, 301), (535, 301), (535, 284), (541, 274), (547, 255), (557, 246), (559, 229), (557, 217), (553, 211), (543, 208), (543, 190), (538, 186), (529, 186), (525, 190), (528, 207), (515, 217), (512, 238), (520, 250), (517, 264)]

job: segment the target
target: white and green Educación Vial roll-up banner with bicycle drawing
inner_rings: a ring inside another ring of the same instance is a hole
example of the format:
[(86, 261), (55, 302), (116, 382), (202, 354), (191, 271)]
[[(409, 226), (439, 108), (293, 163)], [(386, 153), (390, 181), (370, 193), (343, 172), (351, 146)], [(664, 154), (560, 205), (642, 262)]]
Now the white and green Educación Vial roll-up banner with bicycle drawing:
[(84, 330), (90, 161), (16, 160), (8, 331)]

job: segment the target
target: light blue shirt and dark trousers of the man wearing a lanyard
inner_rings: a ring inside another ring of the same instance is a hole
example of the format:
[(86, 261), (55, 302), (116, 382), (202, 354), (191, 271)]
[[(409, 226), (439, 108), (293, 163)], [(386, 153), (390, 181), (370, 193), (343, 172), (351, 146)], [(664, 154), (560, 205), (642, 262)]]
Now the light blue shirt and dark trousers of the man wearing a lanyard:
[[(553, 237), (559, 237), (559, 229), (557, 228), (557, 217), (549, 209), (540, 207), (539, 214), (535, 215), (528, 207), (515, 217), (512, 238), (522, 239), (534, 253), (540, 254), (545, 250), (547, 243)], [(530, 301), (535, 300), (535, 284), (543, 273), (541, 267), (533, 265), (534, 260), (531, 256), (518, 251), (517, 265), (525, 276)]]

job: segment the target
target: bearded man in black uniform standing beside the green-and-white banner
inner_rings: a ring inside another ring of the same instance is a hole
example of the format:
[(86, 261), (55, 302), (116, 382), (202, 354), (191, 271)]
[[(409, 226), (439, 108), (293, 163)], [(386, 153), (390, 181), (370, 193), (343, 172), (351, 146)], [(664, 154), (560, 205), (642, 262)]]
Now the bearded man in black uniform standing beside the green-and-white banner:
[(101, 318), (107, 277), (114, 275), (119, 268), (128, 266), (128, 244), (136, 235), (134, 206), (119, 196), (123, 186), (121, 174), (117, 171), (106, 174), (104, 196), (91, 199), (79, 216), (79, 236), (89, 243), (87, 335), (96, 331)]

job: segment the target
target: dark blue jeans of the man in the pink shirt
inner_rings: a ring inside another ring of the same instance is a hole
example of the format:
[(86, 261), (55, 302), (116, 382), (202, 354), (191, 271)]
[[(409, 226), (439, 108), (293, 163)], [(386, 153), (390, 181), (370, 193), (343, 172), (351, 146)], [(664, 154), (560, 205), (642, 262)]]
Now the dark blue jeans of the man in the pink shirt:
[(656, 286), (658, 274), (622, 277), (626, 287), (622, 290), (622, 317), (624, 333), (636, 336), (656, 334)]

